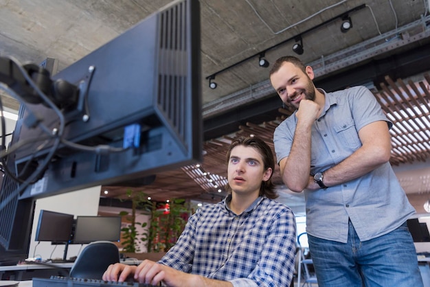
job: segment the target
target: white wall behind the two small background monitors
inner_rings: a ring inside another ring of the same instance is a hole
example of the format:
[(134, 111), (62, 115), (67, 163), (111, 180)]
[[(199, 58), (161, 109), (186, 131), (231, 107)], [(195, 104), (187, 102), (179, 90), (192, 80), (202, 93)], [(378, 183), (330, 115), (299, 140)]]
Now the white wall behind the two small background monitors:
[[(41, 209), (61, 212), (63, 214), (73, 214), (75, 217), (97, 216), (100, 191), (101, 187), (99, 185), (85, 190), (67, 192), (65, 194), (49, 196), (36, 200), (36, 210), (34, 211), (33, 229), (32, 236), (30, 238), (28, 257), (40, 256), (43, 260), (49, 258), (63, 258), (65, 245), (56, 246), (52, 245), (51, 242), (41, 242), (40, 244), (37, 244), (38, 242), (34, 241)], [(80, 244), (70, 244), (67, 252), (67, 259), (72, 256), (78, 256), (78, 253), (83, 249), (83, 246)]]

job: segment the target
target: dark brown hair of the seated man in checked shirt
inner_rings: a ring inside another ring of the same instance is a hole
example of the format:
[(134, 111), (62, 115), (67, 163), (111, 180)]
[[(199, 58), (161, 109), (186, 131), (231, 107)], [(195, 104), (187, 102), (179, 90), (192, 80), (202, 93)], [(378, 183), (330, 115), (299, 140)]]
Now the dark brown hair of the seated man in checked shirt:
[[(278, 198), (278, 193), (276, 192), (275, 185), (272, 183), (273, 172), (275, 172), (275, 159), (273, 157), (273, 152), (267, 143), (258, 137), (236, 137), (229, 146), (226, 154), (227, 165), (229, 163), (231, 150), (236, 146), (250, 146), (260, 153), (263, 159), (264, 170), (268, 168), (272, 169), (272, 174), (268, 181), (262, 181), (260, 186), (260, 196), (266, 196), (267, 198), (275, 199)], [(231, 192), (231, 187), (227, 183), (226, 189)]]

